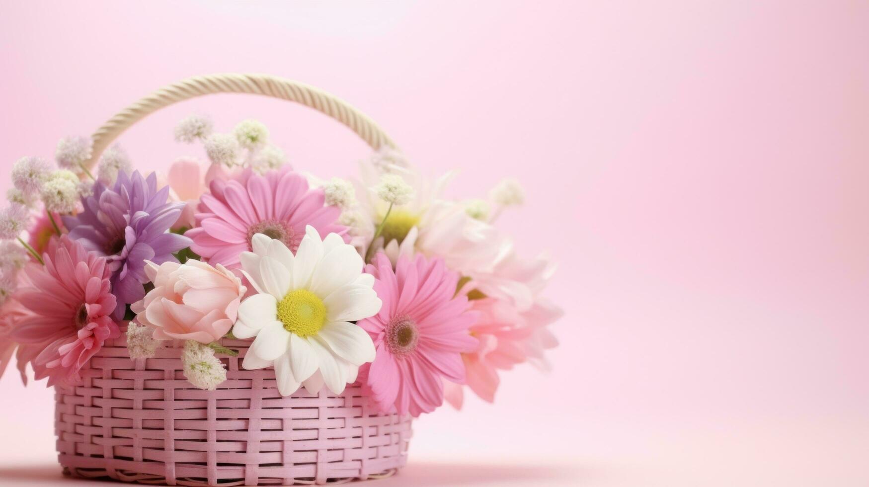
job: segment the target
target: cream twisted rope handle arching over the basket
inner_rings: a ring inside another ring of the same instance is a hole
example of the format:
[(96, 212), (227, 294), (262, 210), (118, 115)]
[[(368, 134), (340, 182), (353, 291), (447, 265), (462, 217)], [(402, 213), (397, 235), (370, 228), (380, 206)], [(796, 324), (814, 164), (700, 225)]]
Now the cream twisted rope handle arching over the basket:
[(350, 130), (356, 132), (375, 150), (380, 149), (383, 145), (395, 146), (392, 139), (383, 132), (377, 123), (353, 108), (349, 103), (325, 91), (283, 77), (223, 73), (189, 77), (178, 83), (164, 86), (148, 97), (129, 105), (115, 117), (111, 117), (91, 136), (94, 143), (93, 156), (85, 165), (88, 168), (93, 167), (94, 163), (103, 155), (103, 150), (106, 150), (109, 144), (124, 130), (156, 110), (189, 98), (214, 93), (250, 93), (302, 103), (347, 125)]

